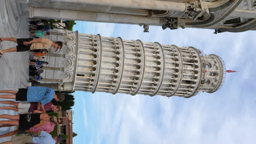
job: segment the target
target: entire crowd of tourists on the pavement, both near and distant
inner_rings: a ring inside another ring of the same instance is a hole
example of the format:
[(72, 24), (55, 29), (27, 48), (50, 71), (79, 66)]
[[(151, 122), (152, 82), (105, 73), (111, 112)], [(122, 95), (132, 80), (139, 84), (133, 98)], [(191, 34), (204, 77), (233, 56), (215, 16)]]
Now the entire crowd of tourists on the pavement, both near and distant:
[[(30, 51), (30, 59), (28, 61), (30, 67), (30, 81), (37, 82), (42, 80), (40, 74), (43, 73), (43, 67), (49, 63), (44, 61), (44, 55), (48, 53), (48, 49), (61, 49), (62, 42), (55, 43), (50, 39), (44, 38), (49, 35), (49, 26), (45, 25), (43, 20), (30, 21), (30, 35), (33, 38), (0, 38), (0, 44), (3, 41), (13, 41), (18, 45), (9, 49), (0, 50), (0, 58), (7, 52)], [(34, 39), (37, 38), (37, 39)], [(16, 134), (37, 134), (39, 136), (21, 135), (13, 136), (11, 141), (1, 144), (22, 144), (22, 143), (39, 143), (54, 144), (62, 140), (60, 135), (52, 137), (49, 133), (54, 130), (56, 124), (61, 123), (61, 119), (48, 115), (49, 111), (61, 111), (60, 105), (54, 105), (51, 100), (63, 101), (63, 94), (55, 94), (54, 89), (48, 87), (27, 87), (20, 88), (19, 91), (1, 90), (0, 93), (8, 93), (0, 95), (0, 99), (12, 99), (0, 101), (2, 106), (0, 110), (18, 111), (19, 115), (0, 115), (0, 118), (7, 118), (8, 121), (0, 121), (0, 128), (18, 126), (15, 131), (0, 135), (0, 138), (16, 135)], [(15, 101), (13, 101), (15, 100)], [(11, 106), (10, 106), (11, 105)]]

